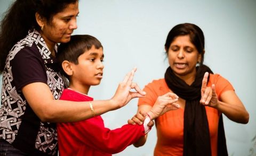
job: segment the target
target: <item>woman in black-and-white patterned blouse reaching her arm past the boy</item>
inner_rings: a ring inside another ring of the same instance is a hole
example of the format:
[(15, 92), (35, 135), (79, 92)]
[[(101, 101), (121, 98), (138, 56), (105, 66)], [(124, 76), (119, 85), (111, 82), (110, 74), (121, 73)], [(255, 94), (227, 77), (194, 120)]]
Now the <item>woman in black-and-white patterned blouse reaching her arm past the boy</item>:
[(132, 83), (133, 70), (113, 98), (93, 101), (93, 107), (58, 100), (66, 81), (55, 60), (57, 44), (70, 40), (78, 13), (78, 0), (17, 0), (6, 12), (0, 29), (0, 155), (57, 155), (54, 123), (84, 120), (144, 96)]

